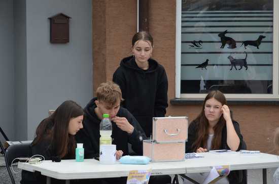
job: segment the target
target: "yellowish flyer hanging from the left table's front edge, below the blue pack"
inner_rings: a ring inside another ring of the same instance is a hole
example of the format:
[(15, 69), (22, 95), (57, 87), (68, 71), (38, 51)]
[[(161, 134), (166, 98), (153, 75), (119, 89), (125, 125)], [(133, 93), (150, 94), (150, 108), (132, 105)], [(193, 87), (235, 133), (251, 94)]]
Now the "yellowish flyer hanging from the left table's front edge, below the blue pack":
[(127, 178), (127, 184), (148, 184), (151, 175), (149, 170), (131, 170)]

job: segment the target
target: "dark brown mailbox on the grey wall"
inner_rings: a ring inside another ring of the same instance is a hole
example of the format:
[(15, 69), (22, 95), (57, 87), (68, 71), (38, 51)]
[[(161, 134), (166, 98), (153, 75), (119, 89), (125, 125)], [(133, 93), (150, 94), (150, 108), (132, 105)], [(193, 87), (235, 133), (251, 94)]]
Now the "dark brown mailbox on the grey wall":
[(67, 43), (69, 42), (69, 19), (65, 14), (57, 14), (50, 19), (50, 42)]

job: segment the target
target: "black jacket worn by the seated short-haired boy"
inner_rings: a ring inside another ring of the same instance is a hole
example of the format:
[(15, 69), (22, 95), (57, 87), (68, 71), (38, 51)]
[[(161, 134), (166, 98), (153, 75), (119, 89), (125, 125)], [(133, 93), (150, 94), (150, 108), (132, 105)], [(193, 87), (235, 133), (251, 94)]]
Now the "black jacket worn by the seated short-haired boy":
[[(76, 134), (77, 143), (83, 143), (84, 157), (95, 158), (99, 156), (99, 139), (100, 139), (100, 122), (94, 109), (97, 98), (93, 98), (84, 109), (83, 129)], [(143, 140), (147, 139), (146, 135), (136, 119), (127, 111), (127, 109), (120, 107), (117, 116), (127, 118), (128, 122), (134, 127), (132, 134), (118, 128), (112, 122), (112, 139), (113, 144), (116, 145), (117, 150), (123, 151), (123, 156), (128, 155), (128, 143), (132, 145), (132, 149), (138, 155), (143, 154)]]

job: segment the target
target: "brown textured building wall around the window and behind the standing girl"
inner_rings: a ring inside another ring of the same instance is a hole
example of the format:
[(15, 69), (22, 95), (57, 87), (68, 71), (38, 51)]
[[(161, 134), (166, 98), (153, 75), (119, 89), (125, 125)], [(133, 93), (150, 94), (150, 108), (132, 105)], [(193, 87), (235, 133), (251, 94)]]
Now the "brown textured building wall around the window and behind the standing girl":
[[(168, 99), (175, 98), (176, 1), (152, 0), (149, 31), (154, 39), (152, 57), (168, 76)], [(123, 57), (131, 55), (131, 39), (136, 32), (136, 1), (93, 0), (93, 84), (112, 80)], [(140, 93), (140, 91), (139, 91)], [(249, 150), (272, 151), (272, 132), (279, 126), (276, 105), (231, 105)], [(171, 105), (167, 115), (189, 116), (192, 121), (201, 105)], [(274, 153), (274, 152), (270, 152)]]

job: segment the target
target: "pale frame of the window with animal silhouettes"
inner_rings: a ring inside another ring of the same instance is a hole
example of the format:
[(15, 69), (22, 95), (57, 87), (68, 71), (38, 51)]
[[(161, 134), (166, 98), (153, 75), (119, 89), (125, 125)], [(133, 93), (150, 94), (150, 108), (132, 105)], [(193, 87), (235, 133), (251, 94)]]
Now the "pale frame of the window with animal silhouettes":
[[(181, 94), (181, 20), (182, 0), (176, 0), (176, 98), (204, 99), (206, 94)], [(228, 100), (279, 101), (279, 1), (273, 0), (272, 94), (225, 94)]]

